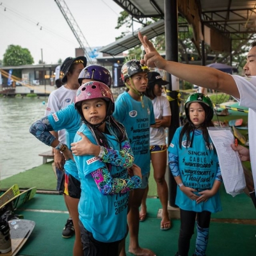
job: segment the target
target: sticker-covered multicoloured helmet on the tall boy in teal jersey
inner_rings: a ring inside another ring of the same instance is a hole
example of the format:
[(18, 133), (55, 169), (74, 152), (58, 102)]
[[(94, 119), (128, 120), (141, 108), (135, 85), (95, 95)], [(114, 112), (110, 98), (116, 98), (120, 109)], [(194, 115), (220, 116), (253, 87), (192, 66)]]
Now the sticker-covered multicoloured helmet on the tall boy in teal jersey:
[(121, 77), (122, 80), (125, 80), (129, 77), (134, 76), (140, 72), (149, 72), (149, 68), (146, 65), (140, 63), (139, 60), (130, 60), (127, 61), (121, 68)]

